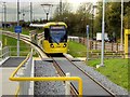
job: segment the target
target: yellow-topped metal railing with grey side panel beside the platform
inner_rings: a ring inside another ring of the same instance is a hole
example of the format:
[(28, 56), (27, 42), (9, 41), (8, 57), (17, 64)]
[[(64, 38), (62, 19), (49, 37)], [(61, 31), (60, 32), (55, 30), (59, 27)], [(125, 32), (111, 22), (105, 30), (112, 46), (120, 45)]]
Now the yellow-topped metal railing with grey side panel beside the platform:
[[(18, 75), (20, 69), (25, 65), (25, 69), (22, 75)], [(11, 74), (11, 81), (18, 81), (20, 86), (15, 93), (15, 95), (29, 95), (30, 81), (77, 81), (79, 96), (82, 96), (82, 80), (79, 77), (31, 77), (32, 65), (32, 50), (31, 53), (28, 54), (26, 59), (15, 69), (15, 71)], [(18, 75), (18, 77), (17, 77)]]

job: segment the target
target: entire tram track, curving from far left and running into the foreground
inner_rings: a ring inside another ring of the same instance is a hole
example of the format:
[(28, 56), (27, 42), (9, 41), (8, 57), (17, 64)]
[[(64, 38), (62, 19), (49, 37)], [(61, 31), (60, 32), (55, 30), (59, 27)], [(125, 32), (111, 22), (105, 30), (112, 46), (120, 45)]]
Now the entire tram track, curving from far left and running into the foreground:
[[(17, 34), (4, 31), (2, 32), (5, 36), (12, 37), (17, 39)], [(20, 36), (20, 39), (29, 45), (31, 45), (40, 55), (40, 57), (43, 59), (42, 56), (44, 56), (44, 53), (42, 48), (34, 43), (31, 43), (29, 37), (27, 36)], [(96, 82), (91, 75), (86, 73), (83, 70), (81, 70), (77, 65), (69, 60), (67, 57), (51, 57), (53, 59), (53, 65), (56, 68), (58, 74), (61, 77), (65, 77), (65, 73), (69, 72), (72, 77), (80, 77), (83, 81), (83, 95), (86, 96), (115, 96), (110, 91), (105, 88), (103, 85), (101, 85), (99, 82)], [(70, 83), (72, 88), (72, 95), (78, 95), (78, 84), (76, 82)]]

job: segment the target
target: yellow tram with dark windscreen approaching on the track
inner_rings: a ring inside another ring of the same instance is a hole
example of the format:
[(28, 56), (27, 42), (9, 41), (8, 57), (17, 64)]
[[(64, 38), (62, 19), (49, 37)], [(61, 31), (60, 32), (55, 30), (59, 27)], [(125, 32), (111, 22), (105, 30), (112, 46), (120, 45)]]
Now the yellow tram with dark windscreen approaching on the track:
[(47, 23), (43, 25), (31, 25), (34, 27), (43, 27), (44, 39), (42, 47), (47, 54), (67, 53), (67, 25), (63, 22)]

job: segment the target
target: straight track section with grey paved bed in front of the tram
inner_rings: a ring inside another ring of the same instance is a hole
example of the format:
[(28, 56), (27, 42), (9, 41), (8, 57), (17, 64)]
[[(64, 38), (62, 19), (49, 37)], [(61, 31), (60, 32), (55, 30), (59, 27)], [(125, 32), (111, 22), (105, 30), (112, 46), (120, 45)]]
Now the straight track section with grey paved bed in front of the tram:
[[(65, 73), (69, 72), (70, 77), (80, 77), (83, 81), (83, 95), (86, 96), (108, 96), (114, 97), (115, 94), (105, 88), (99, 82), (96, 82), (91, 75), (81, 70), (77, 65), (69, 60), (67, 57), (51, 57), (53, 65), (56, 68), (61, 77), (65, 77)], [(70, 83), (72, 95), (78, 95), (78, 84), (76, 82)]]

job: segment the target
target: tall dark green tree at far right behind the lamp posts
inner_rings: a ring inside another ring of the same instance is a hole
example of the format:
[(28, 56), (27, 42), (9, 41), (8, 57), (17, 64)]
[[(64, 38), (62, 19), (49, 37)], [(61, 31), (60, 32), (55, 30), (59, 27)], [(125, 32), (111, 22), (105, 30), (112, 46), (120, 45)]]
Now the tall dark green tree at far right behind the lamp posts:
[[(99, 13), (95, 18), (95, 30), (101, 31), (102, 28), (102, 3), (99, 3)], [(130, 2), (125, 2), (123, 5), (123, 28), (129, 26), (130, 19)], [(120, 38), (120, 23), (121, 23), (121, 3), (120, 2), (107, 2), (105, 8), (105, 32), (108, 32), (109, 37), (116, 33), (116, 38)]]

